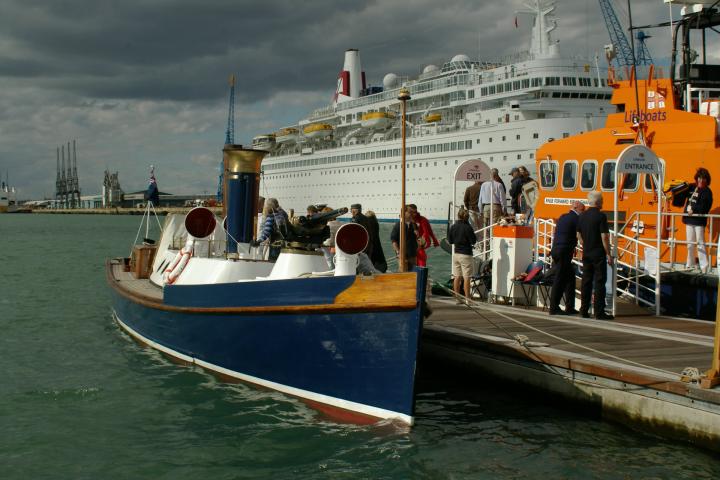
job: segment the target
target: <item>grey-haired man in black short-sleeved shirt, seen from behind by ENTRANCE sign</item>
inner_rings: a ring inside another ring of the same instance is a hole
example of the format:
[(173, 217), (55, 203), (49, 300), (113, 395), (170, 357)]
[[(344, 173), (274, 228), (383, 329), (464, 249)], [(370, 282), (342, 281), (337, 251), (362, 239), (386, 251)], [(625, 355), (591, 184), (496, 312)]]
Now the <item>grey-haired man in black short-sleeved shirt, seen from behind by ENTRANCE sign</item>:
[(612, 320), (605, 313), (605, 282), (607, 266), (613, 264), (610, 250), (610, 230), (607, 217), (600, 211), (603, 198), (600, 192), (588, 194), (589, 208), (578, 219), (578, 239), (583, 247), (583, 276), (580, 287), (580, 315), (590, 318), (590, 298), (595, 294), (593, 313), (597, 320)]

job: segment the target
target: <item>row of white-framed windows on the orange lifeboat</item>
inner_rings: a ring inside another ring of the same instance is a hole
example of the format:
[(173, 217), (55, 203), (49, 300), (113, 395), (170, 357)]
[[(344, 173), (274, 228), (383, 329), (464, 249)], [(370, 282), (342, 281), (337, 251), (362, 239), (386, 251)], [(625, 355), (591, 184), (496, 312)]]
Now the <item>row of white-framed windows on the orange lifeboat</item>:
[[(575, 190), (580, 183), (581, 190), (595, 190), (598, 183), (598, 169), (600, 169), (600, 185), (602, 190), (613, 190), (615, 188), (615, 160), (605, 160), (598, 165), (597, 160), (585, 160), (580, 167), (577, 160), (566, 160), (562, 166), (562, 178), (560, 186), (563, 190)], [(556, 160), (543, 160), (540, 162), (540, 187), (544, 190), (555, 190), (558, 187), (558, 171), (560, 165)], [(579, 175), (578, 175), (579, 170)], [(638, 174), (625, 174), (622, 182), (623, 191), (637, 191), (639, 185)], [(650, 175), (645, 175), (645, 190), (654, 190), (653, 180)]]

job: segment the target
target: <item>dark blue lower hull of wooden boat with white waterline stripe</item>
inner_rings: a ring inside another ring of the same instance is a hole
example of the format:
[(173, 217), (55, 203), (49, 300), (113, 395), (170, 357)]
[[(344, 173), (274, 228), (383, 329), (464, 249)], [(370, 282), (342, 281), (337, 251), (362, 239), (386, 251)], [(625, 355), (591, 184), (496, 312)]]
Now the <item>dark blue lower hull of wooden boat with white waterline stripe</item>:
[[(424, 281), (424, 275), (418, 277)], [(223, 289), (240, 293), (242, 285)], [(223, 308), (153, 305), (119, 288), (113, 297), (124, 330), (181, 361), (301, 398), (334, 419), (413, 423), (421, 298), (405, 310), (314, 305), (284, 312), (282, 306), (218, 311)]]

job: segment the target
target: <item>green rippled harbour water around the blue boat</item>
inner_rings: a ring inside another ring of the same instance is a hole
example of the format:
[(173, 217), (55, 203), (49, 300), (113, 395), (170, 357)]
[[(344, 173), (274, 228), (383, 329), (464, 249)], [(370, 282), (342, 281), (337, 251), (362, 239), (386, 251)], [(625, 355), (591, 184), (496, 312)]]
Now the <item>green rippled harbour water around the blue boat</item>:
[(0, 479), (720, 478), (716, 454), (440, 365), (410, 431), (175, 365), (110, 318), (104, 259), (138, 222), (0, 215)]

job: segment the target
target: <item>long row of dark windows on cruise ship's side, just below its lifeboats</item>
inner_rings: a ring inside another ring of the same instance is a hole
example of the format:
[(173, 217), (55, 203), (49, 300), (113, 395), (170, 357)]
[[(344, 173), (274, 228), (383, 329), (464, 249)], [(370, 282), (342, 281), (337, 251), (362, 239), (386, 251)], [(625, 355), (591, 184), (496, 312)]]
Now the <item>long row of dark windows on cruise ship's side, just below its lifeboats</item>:
[[(569, 133), (563, 133), (563, 138), (568, 137)], [(536, 139), (539, 134), (533, 133)], [(520, 140), (520, 135), (515, 135), (515, 140)], [(507, 135), (501, 137), (501, 141), (507, 141)], [(488, 137), (488, 143), (493, 142), (493, 137)], [(476, 144), (480, 144), (480, 139), (475, 140)], [(455, 152), (458, 150), (469, 150), (472, 148), (472, 140), (459, 142), (438, 143), (435, 145), (421, 145), (417, 147), (406, 147), (405, 155), (425, 155), (430, 153)], [(351, 153), (347, 155), (335, 155), (333, 157), (307, 158), (305, 160), (294, 160), (291, 162), (282, 162), (271, 165), (265, 165), (264, 171), (284, 170), (287, 168), (311, 167), (315, 165), (327, 165), (331, 163), (356, 162), (363, 160), (375, 160), (380, 158), (399, 157), (399, 148), (390, 148), (387, 150), (377, 150), (374, 152)]]

